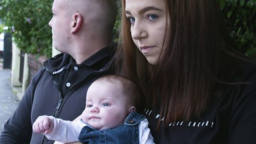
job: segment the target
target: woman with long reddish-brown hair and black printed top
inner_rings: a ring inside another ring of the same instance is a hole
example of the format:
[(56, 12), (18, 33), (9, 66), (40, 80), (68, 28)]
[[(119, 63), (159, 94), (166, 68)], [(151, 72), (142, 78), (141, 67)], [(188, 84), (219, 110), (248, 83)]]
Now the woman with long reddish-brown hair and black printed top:
[(234, 47), (214, 0), (122, 0), (117, 73), (156, 143), (256, 142), (256, 67)]

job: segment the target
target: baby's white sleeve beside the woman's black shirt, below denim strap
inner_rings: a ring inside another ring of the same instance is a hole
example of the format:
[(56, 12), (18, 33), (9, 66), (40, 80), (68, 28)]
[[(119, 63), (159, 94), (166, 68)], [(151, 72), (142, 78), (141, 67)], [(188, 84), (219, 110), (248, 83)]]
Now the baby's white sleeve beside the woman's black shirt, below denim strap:
[(151, 135), (150, 129), (148, 128), (148, 120), (147, 118), (143, 119), (139, 123), (139, 138), (140, 144), (153, 144), (154, 138)]

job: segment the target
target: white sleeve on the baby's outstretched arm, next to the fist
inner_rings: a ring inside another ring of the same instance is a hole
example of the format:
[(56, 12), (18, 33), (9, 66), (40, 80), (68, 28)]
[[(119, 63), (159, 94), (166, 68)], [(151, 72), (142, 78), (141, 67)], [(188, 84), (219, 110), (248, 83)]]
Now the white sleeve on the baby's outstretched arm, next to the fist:
[(79, 141), (78, 137), (82, 128), (86, 126), (85, 123), (81, 120), (71, 122), (64, 121), (63, 119), (55, 118), (53, 116), (49, 117), (54, 123), (54, 127), (50, 133), (46, 134), (47, 139), (63, 143)]

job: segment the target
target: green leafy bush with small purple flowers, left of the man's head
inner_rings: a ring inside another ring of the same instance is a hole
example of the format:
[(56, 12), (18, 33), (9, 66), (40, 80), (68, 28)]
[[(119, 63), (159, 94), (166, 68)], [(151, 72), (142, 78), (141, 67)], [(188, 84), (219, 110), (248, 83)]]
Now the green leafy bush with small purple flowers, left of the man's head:
[(52, 0), (1, 0), (0, 18), (21, 51), (51, 57)]

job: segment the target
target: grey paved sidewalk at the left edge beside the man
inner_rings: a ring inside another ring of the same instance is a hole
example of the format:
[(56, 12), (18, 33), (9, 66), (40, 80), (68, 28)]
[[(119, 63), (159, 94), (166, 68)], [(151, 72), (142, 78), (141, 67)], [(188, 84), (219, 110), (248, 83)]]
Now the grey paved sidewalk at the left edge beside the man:
[(12, 92), (10, 86), (10, 69), (3, 69), (0, 61), (0, 133), (3, 125), (9, 119), (18, 106), (18, 98)]

